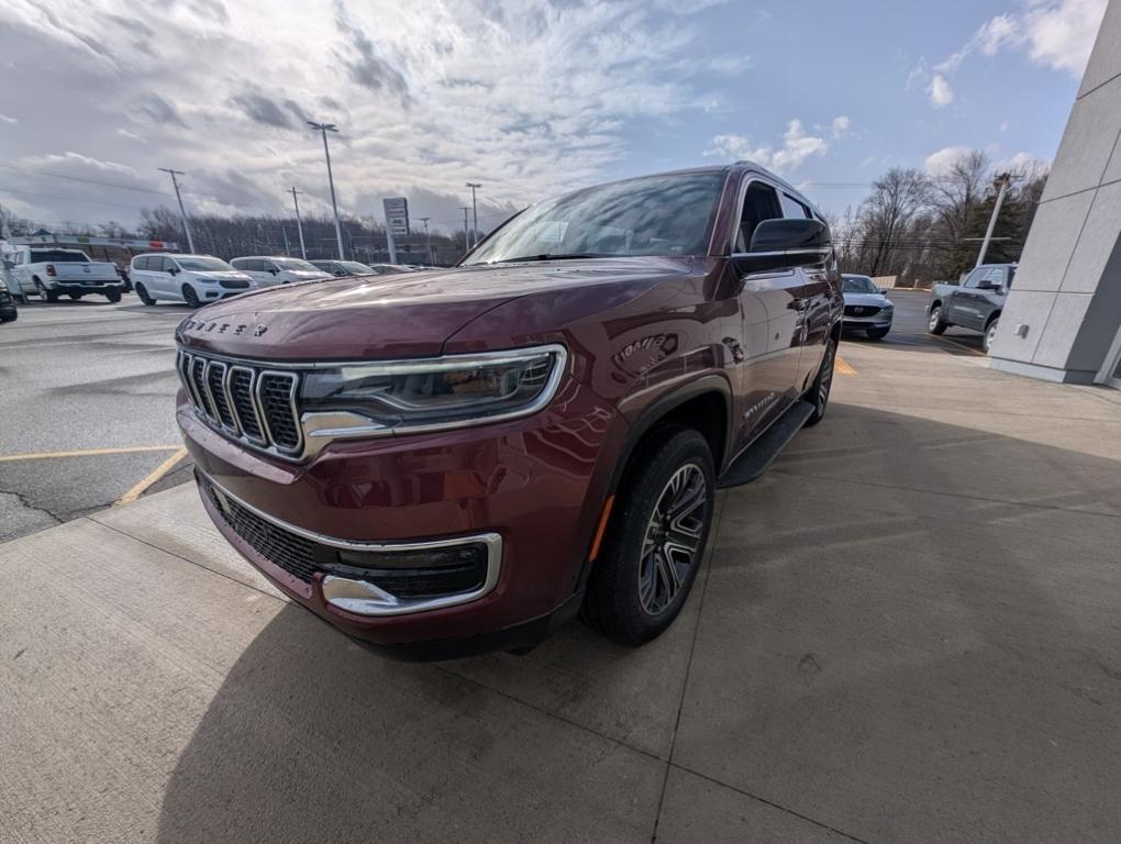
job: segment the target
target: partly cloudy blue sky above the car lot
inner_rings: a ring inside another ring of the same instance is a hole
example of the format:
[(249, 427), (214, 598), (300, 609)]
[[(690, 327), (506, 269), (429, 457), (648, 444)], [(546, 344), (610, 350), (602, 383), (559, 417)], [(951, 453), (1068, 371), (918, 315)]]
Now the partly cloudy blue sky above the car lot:
[(407, 195), (480, 226), (753, 158), (827, 211), (962, 149), (1050, 159), (1106, 0), (4, 0), (0, 204), (45, 224)]

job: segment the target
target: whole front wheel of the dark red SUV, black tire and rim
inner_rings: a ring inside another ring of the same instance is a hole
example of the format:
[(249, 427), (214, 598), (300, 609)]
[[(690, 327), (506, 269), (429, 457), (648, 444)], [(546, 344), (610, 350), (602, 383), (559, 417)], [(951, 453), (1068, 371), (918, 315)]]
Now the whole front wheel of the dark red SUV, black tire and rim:
[(700, 433), (673, 425), (650, 434), (617, 493), (589, 578), (583, 612), (593, 628), (630, 647), (665, 632), (704, 559), (715, 492), (712, 451)]

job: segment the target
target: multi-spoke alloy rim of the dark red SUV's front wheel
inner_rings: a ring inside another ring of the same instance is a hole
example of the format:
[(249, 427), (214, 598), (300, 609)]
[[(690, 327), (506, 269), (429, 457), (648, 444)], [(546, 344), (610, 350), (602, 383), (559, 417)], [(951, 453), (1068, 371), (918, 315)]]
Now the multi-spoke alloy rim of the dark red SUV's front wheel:
[(658, 497), (639, 555), (638, 597), (643, 612), (669, 608), (696, 565), (708, 518), (704, 472), (687, 463), (670, 476)]

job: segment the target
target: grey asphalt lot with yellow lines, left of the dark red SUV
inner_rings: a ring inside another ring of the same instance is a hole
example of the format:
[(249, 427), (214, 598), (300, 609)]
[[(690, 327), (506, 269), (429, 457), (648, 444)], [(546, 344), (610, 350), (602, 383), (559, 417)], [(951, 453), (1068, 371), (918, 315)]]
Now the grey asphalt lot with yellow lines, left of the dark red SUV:
[(2, 326), (0, 541), (189, 476), (172, 336), (187, 313), (132, 295), (33, 302)]

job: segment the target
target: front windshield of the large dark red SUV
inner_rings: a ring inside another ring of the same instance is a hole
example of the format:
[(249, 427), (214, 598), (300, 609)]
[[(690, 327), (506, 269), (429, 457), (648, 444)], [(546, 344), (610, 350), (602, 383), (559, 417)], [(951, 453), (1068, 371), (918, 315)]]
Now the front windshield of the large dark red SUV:
[(612, 256), (704, 254), (724, 173), (617, 182), (532, 205), (463, 266)]

